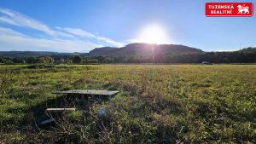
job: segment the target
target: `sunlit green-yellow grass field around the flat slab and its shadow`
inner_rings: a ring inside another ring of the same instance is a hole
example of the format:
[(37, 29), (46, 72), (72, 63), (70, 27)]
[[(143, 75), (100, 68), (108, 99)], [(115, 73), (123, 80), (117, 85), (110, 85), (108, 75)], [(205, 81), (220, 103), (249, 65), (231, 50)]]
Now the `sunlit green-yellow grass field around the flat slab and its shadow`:
[[(256, 143), (255, 65), (0, 66), (0, 74), (0, 143)], [(50, 130), (32, 127), (63, 89), (121, 92), (94, 104), (85, 122), (77, 111)]]

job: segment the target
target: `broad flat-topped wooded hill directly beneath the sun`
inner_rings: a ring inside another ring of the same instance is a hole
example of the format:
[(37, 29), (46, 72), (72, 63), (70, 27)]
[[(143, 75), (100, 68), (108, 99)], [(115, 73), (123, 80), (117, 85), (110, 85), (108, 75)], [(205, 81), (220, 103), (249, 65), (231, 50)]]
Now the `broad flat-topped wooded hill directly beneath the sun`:
[(195, 49), (177, 44), (148, 44), (131, 43), (121, 48), (103, 47), (90, 51), (89, 55), (155, 55), (155, 54), (188, 54), (202, 52)]

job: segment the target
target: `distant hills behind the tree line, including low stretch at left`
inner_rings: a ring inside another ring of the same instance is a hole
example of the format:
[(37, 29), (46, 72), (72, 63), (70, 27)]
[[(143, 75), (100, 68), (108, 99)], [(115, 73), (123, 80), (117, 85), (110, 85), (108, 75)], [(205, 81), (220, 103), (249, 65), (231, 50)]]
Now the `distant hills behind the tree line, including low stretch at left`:
[(0, 51), (0, 56), (5, 57), (31, 57), (44, 55), (155, 55), (155, 54), (188, 54), (202, 52), (201, 49), (195, 49), (188, 46), (176, 44), (148, 44), (131, 43), (121, 48), (102, 47), (91, 50), (89, 53), (57, 53), (44, 51)]

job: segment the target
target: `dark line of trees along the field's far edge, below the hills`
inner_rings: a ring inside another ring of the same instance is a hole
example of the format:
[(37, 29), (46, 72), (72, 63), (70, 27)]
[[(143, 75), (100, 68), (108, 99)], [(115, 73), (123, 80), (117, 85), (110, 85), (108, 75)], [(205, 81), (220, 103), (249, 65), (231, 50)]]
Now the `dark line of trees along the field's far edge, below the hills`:
[(49, 55), (40, 57), (0, 57), (1, 64), (95, 64), (95, 63), (256, 63), (256, 49), (235, 52), (201, 52), (155, 55)]

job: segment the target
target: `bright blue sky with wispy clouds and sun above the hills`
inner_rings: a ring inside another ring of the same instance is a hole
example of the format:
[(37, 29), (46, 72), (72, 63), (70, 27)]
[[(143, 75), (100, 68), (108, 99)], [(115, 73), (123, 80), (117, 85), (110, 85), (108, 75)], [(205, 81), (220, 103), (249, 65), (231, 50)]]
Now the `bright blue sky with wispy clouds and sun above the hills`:
[(0, 51), (89, 52), (128, 43), (231, 51), (256, 45), (255, 16), (206, 17), (207, 2), (0, 0)]

